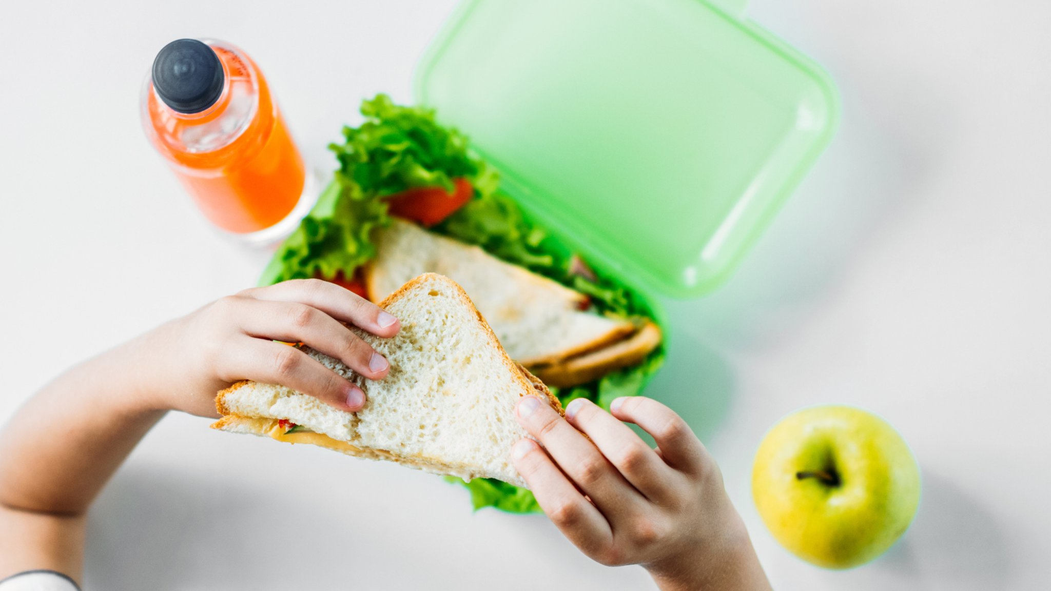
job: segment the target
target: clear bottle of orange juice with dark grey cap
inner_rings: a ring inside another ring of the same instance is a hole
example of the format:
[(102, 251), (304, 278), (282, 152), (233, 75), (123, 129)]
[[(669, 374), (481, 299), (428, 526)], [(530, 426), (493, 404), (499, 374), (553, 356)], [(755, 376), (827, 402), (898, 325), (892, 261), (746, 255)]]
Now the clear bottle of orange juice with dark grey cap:
[(222, 41), (179, 39), (150, 74), (146, 135), (205, 217), (252, 243), (291, 231), (316, 196), (251, 58)]

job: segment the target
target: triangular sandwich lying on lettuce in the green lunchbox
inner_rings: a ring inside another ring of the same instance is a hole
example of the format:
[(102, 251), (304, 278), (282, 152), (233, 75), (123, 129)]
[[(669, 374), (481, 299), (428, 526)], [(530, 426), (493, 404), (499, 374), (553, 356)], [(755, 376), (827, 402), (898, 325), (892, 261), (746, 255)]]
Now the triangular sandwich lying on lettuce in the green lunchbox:
[(365, 267), (379, 302), (423, 272), (449, 276), (468, 292), (513, 360), (545, 383), (568, 387), (637, 365), (661, 342), (645, 319), (596, 313), (583, 293), (400, 219), (377, 228)]

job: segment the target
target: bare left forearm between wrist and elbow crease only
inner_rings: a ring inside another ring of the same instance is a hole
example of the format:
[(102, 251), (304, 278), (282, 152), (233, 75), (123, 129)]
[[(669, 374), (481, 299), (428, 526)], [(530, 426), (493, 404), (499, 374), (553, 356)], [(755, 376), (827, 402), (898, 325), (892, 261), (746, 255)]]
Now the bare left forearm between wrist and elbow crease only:
[(63, 515), (87, 509), (164, 414), (149, 376), (157, 349), (148, 344), (159, 337), (84, 362), (25, 403), (0, 432), (0, 505)]

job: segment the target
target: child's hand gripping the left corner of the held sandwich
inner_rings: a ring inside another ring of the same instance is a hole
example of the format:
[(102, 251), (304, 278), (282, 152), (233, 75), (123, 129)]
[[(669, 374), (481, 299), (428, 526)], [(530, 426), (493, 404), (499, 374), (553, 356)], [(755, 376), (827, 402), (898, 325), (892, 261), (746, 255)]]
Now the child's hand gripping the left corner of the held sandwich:
[[(397, 319), (343, 287), (315, 279), (246, 289), (212, 302), (144, 337), (159, 349), (157, 406), (215, 416), (215, 392), (239, 380), (281, 384), (342, 410), (358, 410), (365, 393), (286, 343), (304, 343), (370, 380), (389, 364), (341, 322), (393, 337)], [(150, 364), (152, 365), (152, 364)]]

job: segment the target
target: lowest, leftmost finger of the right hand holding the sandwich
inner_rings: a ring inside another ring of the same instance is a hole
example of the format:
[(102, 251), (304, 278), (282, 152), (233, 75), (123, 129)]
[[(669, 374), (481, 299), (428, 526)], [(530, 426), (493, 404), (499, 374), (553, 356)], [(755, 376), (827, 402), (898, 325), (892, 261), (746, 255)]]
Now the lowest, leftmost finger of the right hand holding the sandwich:
[(592, 554), (611, 544), (613, 529), (609, 522), (536, 442), (520, 440), (511, 449), (511, 461), (543, 512), (577, 548)]

